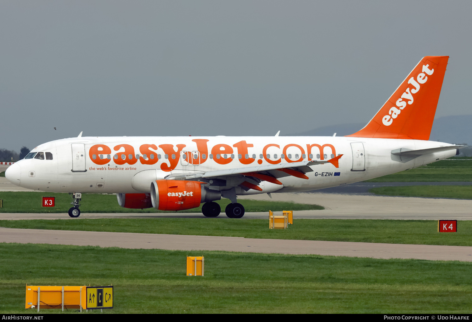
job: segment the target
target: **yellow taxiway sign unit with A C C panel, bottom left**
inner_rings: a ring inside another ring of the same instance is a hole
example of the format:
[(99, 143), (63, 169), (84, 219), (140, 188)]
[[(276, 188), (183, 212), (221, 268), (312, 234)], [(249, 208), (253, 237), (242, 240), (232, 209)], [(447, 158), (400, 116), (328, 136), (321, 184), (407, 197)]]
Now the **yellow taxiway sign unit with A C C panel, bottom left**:
[[(40, 289), (40, 308), (62, 307), (62, 286), (26, 285), (26, 309), (32, 306), (37, 307), (38, 288)], [(82, 288), (82, 293), (80, 288)], [(80, 308), (81, 304), (83, 309), (113, 308), (113, 286), (64, 286), (64, 306)]]

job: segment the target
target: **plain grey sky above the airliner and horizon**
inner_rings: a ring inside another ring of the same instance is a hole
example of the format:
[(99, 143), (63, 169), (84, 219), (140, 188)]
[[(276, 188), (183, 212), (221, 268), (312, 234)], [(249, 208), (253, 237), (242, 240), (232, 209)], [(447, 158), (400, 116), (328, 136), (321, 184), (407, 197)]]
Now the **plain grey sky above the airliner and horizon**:
[[(367, 123), (423, 56), (472, 114), (470, 1), (0, 1), (0, 148)], [(57, 130), (53, 128), (56, 127)]]

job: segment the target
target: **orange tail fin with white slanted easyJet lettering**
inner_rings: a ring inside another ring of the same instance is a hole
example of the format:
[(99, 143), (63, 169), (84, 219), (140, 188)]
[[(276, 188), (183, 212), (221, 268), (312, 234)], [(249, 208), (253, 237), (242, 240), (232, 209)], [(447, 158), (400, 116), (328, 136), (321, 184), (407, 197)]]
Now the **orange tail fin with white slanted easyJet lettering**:
[(426, 56), (360, 131), (346, 137), (429, 140), (449, 56)]

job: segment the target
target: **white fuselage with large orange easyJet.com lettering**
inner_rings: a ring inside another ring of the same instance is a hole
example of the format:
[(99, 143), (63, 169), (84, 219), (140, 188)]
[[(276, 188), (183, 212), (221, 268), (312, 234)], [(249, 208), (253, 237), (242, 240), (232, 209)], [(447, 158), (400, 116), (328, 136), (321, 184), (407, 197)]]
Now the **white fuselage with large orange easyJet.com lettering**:
[[(18, 161), (11, 166), (15, 168), (9, 171), (8, 179), (40, 191), (148, 193), (153, 180), (170, 174), (329, 160), (343, 154), (339, 168), (331, 163), (311, 166), (313, 171), (306, 173), (308, 180), (287, 176), (279, 178), (283, 185), (263, 181), (262, 191), (236, 191), (239, 195), (296, 192), (350, 184), (455, 155), (456, 151), (450, 150), (401, 161), (391, 154), (400, 148), (418, 150), (444, 145), (449, 144), (364, 137), (76, 137), (34, 148), (32, 152), (52, 153), (52, 160)], [(188, 163), (189, 159), (194, 164)], [(212, 189), (235, 186), (230, 178), (226, 180), (227, 186), (215, 183)]]

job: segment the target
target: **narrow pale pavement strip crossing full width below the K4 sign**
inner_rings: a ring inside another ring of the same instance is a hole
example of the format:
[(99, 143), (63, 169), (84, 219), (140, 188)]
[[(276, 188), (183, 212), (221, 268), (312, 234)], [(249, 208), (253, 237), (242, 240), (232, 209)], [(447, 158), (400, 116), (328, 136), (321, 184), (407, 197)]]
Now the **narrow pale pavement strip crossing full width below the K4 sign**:
[(368, 242), (326, 242), (152, 233), (84, 232), (0, 227), (0, 242), (161, 250), (223, 250), (369, 258), (472, 261), (472, 247)]

